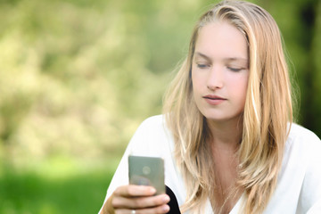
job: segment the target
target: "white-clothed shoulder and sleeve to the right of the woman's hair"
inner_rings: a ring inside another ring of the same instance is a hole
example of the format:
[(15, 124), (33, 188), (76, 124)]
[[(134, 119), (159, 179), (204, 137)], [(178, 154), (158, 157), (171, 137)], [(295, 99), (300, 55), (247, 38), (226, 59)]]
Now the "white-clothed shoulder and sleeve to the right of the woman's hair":
[[(282, 169), (276, 191), (264, 213), (307, 213), (321, 193), (321, 142), (308, 128), (289, 126), (290, 133), (284, 148)], [(281, 201), (287, 202), (284, 205)], [(291, 212), (291, 210), (288, 210)]]

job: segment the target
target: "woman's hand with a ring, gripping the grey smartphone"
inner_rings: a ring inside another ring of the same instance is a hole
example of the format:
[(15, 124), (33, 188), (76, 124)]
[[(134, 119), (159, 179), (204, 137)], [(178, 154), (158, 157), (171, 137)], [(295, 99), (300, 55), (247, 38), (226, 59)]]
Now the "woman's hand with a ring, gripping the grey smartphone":
[[(122, 185), (119, 186), (106, 204), (103, 210), (107, 213), (130, 214), (136, 210), (136, 214), (158, 214), (169, 212), (169, 195), (156, 193), (155, 188), (147, 185)], [(105, 213), (105, 212), (103, 212)]]

